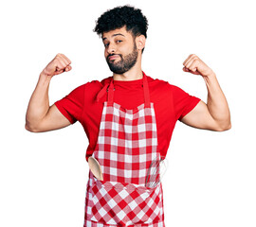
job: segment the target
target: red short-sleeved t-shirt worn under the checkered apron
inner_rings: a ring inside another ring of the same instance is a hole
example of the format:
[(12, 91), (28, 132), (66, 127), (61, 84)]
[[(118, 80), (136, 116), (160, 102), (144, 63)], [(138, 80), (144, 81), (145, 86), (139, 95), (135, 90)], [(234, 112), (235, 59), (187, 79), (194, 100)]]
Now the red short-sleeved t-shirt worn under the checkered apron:
[[(155, 107), (158, 150), (161, 156), (165, 157), (176, 121), (190, 113), (200, 98), (190, 96), (168, 81), (146, 77), (149, 84), (150, 101), (154, 102)], [(108, 77), (101, 81), (92, 80), (82, 84), (69, 95), (55, 102), (56, 107), (71, 124), (76, 121), (82, 124), (89, 140), (86, 160), (91, 156), (97, 144), (103, 102), (107, 100), (106, 88), (111, 78)], [(143, 79), (114, 80), (114, 102), (126, 109), (136, 108), (144, 102), (142, 84)]]

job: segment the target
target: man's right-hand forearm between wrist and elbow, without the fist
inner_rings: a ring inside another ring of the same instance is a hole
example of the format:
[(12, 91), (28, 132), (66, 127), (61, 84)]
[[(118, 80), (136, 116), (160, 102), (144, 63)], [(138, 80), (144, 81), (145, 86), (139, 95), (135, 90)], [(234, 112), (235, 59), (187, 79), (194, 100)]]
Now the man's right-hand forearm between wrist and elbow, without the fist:
[(212, 72), (209, 76), (204, 76), (203, 79), (205, 79), (208, 89), (207, 107), (210, 115), (222, 129), (229, 130), (231, 127), (229, 105), (216, 75)]

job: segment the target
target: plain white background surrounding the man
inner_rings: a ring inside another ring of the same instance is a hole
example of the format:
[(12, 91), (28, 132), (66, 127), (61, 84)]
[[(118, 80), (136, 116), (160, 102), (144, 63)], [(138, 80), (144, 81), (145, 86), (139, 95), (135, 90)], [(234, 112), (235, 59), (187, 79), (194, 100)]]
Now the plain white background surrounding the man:
[[(182, 71), (192, 53), (216, 73), (232, 129), (177, 122), (163, 178), (167, 227), (255, 227), (255, 7), (253, 1), (5, 1), (0, 6), (0, 226), (82, 227), (88, 140), (80, 123), (25, 130), (28, 100), (57, 53), (72, 71), (52, 79), (50, 104), (111, 76), (93, 32), (106, 9), (130, 3), (149, 21), (142, 69), (207, 101), (204, 80)], [(167, 100), (168, 101), (168, 100)]]

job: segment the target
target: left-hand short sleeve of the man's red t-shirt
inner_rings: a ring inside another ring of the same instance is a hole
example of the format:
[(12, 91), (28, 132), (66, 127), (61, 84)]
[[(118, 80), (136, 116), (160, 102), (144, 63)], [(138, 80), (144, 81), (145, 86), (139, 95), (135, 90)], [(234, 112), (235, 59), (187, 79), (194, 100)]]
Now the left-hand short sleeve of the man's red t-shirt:
[(81, 120), (83, 103), (84, 85), (81, 85), (54, 104), (69, 122), (74, 124), (77, 120)]

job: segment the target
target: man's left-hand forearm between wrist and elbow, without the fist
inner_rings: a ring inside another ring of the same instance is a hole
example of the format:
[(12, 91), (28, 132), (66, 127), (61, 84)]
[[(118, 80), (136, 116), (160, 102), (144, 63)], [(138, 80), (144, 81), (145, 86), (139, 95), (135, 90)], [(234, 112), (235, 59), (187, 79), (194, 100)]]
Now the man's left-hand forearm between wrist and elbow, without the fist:
[(42, 72), (30, 97), (26, 114), (26, 129), (29, 131), (33, 131), (37, 127), (49, 110), (48, 88), (50, 79), (51, 77)]

